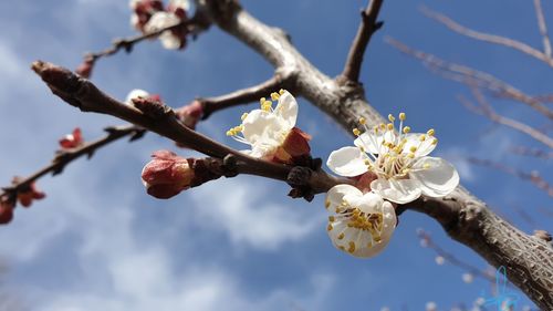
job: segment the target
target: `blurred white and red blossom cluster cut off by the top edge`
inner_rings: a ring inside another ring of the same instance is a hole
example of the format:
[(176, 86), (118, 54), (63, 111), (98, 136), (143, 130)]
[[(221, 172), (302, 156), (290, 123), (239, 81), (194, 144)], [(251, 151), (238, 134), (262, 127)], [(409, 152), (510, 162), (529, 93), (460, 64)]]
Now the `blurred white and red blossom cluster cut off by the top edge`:
[(163, 1), (159, 0), (131, 0), (129, 7), (133, 10), (131, 24), (136, 30), (148, 34), (176, 25), (159, 34), (159, 41), (165, 49), (169, 50), (186, 46), (188, 29), (182, 22), (188, 19), (189, 0), (170, 0), (166, 8), (164, 8)]

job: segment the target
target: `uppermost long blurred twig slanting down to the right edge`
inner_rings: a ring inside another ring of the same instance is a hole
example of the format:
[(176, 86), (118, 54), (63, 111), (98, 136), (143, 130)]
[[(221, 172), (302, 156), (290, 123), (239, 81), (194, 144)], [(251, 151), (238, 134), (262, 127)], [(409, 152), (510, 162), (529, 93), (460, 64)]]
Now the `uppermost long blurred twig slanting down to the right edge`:
[(426, 7), (422, 7), (421, 11), (428, 18), (440, 22), (441, 24), (446, 25), (447, 28), (449, 28), (450, 30), (452, 30), (459, 34), (462, 34), (462, 35), (466, 35), (466, 37), (469, 37), (469, 38), (472, 38), (476, 40), (480, 40), (480, 41), (484, 41), (484, 42), (489, 42), (489, 43), (499, 44), (499, 45), (514, 49), (514, 50), (520, 51), (524, 54), (531, 55), (531, 56), (533, 56), (533, 58), (535, 58), (535, 59), (538, 59), (538, 60), (540, 60), (540, 61), (542, 61), (542, 62), (544, 62), (547, 65), (553, 68), (553, 59), (551, 56), (549, 56), (547, 54), (543, 53), (542, 51), (540, 51), (538, 49), (534, 49), (534, 48), (528, 45), (526, 43), (523, 43), (523, 42), (520, 42), (520, 41), (517, 41), (517, 40), (513, 40), (513, 39), (510, 39), (507, 37), (501, 37), (501, 35), (497, 35), (497, 34), (489, 34), (489, 33), (471, 30), (465, 25), (459, 24), (458, 22), (453, 21), (449, 17), (441, 14), (441, 13), (438, 13), (438, 12), (435, 12), (435, 11), (431, 11), (430, 9), (428, 9)]

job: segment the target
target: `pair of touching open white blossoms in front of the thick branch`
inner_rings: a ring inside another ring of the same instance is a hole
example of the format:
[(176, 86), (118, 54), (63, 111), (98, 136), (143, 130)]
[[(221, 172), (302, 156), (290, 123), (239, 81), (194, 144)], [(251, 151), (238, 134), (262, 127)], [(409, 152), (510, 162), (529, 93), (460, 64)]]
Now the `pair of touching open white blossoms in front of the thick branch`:
[(421, 195), (444, 197), (459, 184), (451, 164), (428, 156), (438, 144), (435, 129), (410, 133), (405, 113), (398, 118), (399, 128), (393, 115), (373, 127), (359, 118), (363, 131), (353, 129), (355, 146), (333, 152), (326, 163), (355, 185), (333, 187), (325, 200), (333, 214), (327, 227), (333, 243), (355, 257), (373, 257), (386, 247), (397, 225), (394, 205)]

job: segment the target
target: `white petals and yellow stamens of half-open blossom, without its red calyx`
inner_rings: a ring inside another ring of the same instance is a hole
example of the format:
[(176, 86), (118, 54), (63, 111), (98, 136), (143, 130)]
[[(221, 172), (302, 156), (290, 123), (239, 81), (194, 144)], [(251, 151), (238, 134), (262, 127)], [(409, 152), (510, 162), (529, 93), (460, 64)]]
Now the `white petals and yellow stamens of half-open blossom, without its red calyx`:
[[(279, 94), (280, 93), (280, 94)], [(253, 157), (265, 158), (274, 155), (294, 128), (298, 118), (298, 102), (290, 92), (281, 90), (272, 93), (272, 102), (261, 99), (261, 108), (242, 114), (242, 123), (227, 131), (236, 141), (250, 145), (246, 151)]]

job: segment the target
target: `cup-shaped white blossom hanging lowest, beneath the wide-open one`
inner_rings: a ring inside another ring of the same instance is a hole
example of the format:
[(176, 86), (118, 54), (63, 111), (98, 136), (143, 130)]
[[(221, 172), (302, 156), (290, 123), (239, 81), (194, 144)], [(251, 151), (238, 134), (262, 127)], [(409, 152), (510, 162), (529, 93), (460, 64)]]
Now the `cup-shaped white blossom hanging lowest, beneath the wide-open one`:
[(333, 245), (354, 257), (369, 258), (388, 245), (397, 225), (389, 201), (374, 193), (363, 194), (349, 185), (337, 185), (326, 194), (327, 231)]

